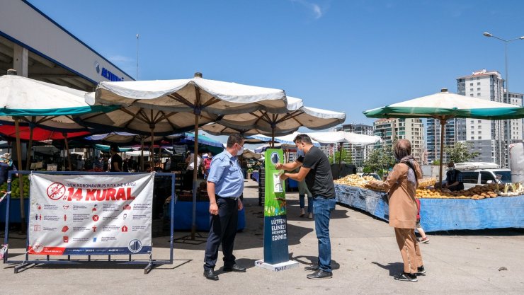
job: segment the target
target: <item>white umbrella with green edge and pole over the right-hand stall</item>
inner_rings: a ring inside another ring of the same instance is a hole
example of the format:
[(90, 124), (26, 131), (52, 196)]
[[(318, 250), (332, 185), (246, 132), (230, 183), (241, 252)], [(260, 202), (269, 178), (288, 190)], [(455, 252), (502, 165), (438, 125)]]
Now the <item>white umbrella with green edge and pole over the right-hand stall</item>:
[(440, 175), (442, 183), (442, 160), (444, 132), (447, 120), (451, 118), (475, 118), (485, 120), (520, 119), (524, 117), (524, 108), (507, 103), (496, 103), (468, 96), (460, 96), (443, 88), (439, 93), (423, 96), (402, 103), (386, 105), (382, 108), (366, 110), (366, 117), (377, 118), (434, 118), (440, 121)]

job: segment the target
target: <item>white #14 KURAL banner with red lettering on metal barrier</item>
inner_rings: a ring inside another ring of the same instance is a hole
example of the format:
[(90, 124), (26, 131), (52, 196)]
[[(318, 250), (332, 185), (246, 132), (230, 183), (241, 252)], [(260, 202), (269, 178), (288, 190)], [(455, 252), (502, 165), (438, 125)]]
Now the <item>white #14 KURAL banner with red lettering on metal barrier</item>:
[(30, 176), (28, 253), (151, 253), (154, 173)]

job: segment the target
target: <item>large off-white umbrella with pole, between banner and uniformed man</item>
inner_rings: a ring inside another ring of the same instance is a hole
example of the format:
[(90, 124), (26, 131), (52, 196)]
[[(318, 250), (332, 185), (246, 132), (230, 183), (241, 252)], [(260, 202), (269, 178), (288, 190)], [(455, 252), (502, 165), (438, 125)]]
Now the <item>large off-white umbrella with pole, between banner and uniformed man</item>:
[[(198, 143), (199, 126), (215, 122), (220, 115), (261, 109), (277, 110), (287, 105), (283, 90), (207, 80), (200, 73), (196, 73), (192, 79), (101, 82), (96, 88), (95, 99), (86, 97), (86, 101), (91, 105), (120, 105), (120, 115), (127, 117), (127, 120), (120, 119), (117, 113), (112, 112), (111, 117), (101, 117), (90, 122), (86, 122), (87, 118), (84, 117), (83, 122), (95, 124), (103, 119), (105, 125), (131, 127), (130, 117), (141, 117), (142, 120), (135, 122), (133, 127), (139, 129), (145, 125), (154, 134), (156, 125), (159, 125), (157, 119), (170, 118), (164, 127), (194, 127), (195, 143)], [(149, 112), (151, 116), (147, 118), (145, 114)], [(194, 153), (198, 154), (198, 144), (195, 144)], [(197, 157), (194, 165), (197, 166)], [(197, 169), (193, 173), (192, 238), (196, 231), (196, 183)]]

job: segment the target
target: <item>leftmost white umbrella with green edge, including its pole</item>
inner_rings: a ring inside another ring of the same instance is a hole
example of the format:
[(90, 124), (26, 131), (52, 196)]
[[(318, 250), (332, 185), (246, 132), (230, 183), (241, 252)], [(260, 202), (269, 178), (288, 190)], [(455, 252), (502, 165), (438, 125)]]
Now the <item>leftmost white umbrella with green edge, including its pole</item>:
[[(0, 76), (0, 105), (0, 122), (12, 124), (16, 130), (18, 168), (21, 170), (21, 146), (18, 136), (21, 123), (30, 127), (30, 134), (34, 127), (59, 132), (85, 131), (84, 127), (72, 120), (72, 116), (113, 109), (111, 106), (87, 105), (83, 91), (17, 76), (15, 70), (8, 70), (6, 75)], [(31, 142), (30, 140), (29, 148)], [(22, 178), (19, 180), (23, 195), (23, 181)], [(25, 228), (23, 206), (21, 198), (22, 229)]]

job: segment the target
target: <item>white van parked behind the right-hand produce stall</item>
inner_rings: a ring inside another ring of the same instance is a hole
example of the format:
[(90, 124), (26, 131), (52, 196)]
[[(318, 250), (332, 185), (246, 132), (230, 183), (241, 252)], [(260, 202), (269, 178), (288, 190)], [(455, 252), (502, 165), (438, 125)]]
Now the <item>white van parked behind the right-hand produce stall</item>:
[(455, 163), (455, 169), (462, 172), (464, 189), (490, 183), (511, 183), (511, 170), (501, 169), (496, 163), (464, 162)]

